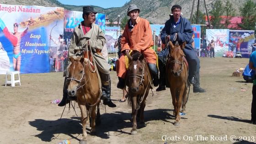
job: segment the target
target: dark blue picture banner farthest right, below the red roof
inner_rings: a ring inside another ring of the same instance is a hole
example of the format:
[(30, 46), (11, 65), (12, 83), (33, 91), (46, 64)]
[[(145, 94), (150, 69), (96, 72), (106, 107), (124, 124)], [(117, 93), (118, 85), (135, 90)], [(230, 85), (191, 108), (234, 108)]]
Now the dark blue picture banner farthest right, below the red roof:
[(254, 31), (229, 30), (229, 51), (241, 52), (242, 57), (249, 58), (251, 44), (254, 43)]

